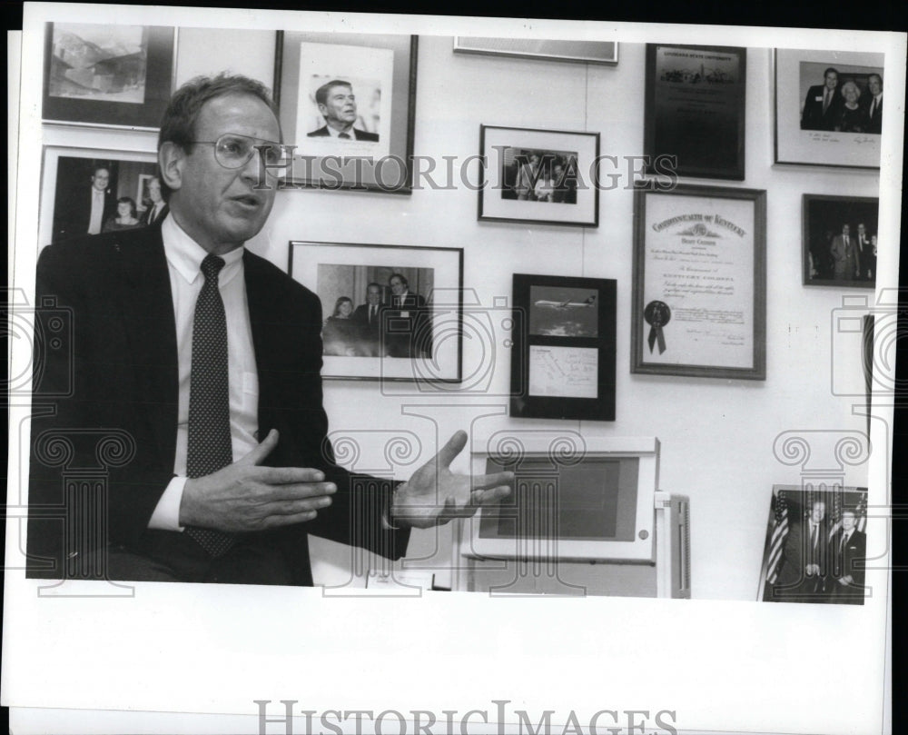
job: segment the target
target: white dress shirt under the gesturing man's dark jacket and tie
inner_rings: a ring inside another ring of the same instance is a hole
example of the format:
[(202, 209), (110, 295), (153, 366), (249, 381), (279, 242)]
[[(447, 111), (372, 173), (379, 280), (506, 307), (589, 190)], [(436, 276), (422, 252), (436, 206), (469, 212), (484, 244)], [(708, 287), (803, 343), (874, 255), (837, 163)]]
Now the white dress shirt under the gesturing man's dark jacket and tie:
[[(164, 255), (173, 294), (176, 318), (176, 351), (180, 385), (177, 404), (176, 457), (173, 473), (152, 513), (148, 527), (163, 531), (183, 531), (180, 503), (186, 485), (186, 452), (189, 445), (189, 387), (192, 373), (192, 323), (195, 302), (205, 281), (202, 260), (208, 254), (200, 244), (183, 232), (173, 216), (161, 225)], [(226, 263), (218, 275), (218, 288), (227, 318), (227, 363), (230, 382), (230, 431), (233, 460), (240, 459), (259, 442), (259, 375), (252, 346), (252, 326), (246, 303), (246, 281), (242, 267), (243, 248), (222, 255)]]

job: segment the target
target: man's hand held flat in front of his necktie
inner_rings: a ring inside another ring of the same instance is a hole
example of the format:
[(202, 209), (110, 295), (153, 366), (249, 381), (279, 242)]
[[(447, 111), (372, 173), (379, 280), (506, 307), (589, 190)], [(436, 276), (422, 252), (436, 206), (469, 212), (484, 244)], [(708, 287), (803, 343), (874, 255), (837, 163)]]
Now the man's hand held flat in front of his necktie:
[(304, 467), (260, 467), (277, 446), (278, 432), (218, 472), (186, 481), (180, 525), (218, 531), (262, 531), (311, 521), (331, 505), (337, 488), (324, 474)]

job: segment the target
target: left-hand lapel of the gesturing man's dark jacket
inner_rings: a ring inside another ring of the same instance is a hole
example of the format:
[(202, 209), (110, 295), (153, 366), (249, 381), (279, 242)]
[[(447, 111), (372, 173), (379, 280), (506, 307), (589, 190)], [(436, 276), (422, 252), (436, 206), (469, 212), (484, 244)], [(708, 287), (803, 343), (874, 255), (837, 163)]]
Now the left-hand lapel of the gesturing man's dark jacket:
[(121, 271), (112, 287), (117, 289), (133, 360), (135, 395), (142, 396), (163, 461), (173, 463), (179, 371), (173, 296), (160, 223), (123, 233), (117, 250)]

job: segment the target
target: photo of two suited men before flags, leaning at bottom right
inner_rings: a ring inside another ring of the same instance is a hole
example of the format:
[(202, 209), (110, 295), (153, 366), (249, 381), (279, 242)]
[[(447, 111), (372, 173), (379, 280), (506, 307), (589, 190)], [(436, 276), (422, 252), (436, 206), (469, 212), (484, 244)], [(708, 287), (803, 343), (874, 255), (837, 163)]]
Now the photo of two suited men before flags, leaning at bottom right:
[(757, 600), (863, 605), (867, 489), (774, 485)]

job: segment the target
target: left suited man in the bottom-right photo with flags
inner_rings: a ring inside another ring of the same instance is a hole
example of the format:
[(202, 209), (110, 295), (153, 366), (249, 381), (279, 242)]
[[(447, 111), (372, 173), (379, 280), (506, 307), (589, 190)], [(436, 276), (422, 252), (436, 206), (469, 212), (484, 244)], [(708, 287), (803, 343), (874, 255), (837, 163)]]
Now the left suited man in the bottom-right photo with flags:
[(827, 601), (829, 528), (826, 503), (814, 500), (801, 522), (792, 522), (785, 537), (782, 566), (774, 597), (792, 602)]

